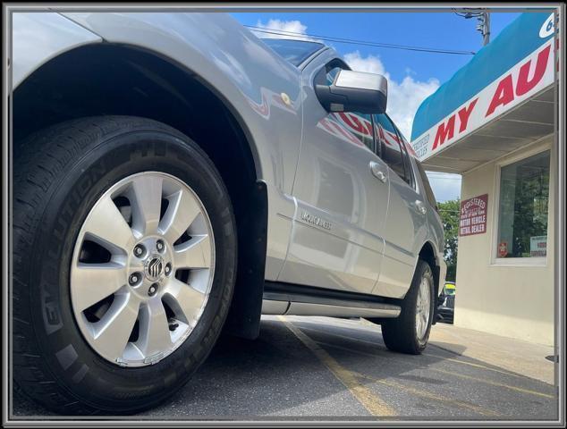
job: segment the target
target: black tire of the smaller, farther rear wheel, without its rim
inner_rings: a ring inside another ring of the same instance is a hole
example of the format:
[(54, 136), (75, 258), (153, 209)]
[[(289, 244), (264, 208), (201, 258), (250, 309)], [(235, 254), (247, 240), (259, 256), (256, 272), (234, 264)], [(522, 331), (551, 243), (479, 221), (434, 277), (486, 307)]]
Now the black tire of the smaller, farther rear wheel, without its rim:
[[(423, 338), (419, 339), (416, 328), (416, 312), (419, 283), (424, 278), (429, 282), (430, 309), (427, 331)], [(436, 299), (434, 299), (434, 290), (431, 267), (427, 262), (419, 260), (416, 271), (413, 274), (410, 290), (402, 301), (402, 312), (394, 319), (384, 319), (382, 321), (382, 337), (388, 349), (411, 355), (419, 355), (426, 348), (436, 302)]]

